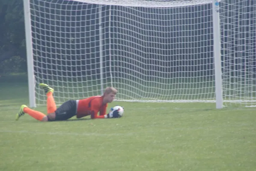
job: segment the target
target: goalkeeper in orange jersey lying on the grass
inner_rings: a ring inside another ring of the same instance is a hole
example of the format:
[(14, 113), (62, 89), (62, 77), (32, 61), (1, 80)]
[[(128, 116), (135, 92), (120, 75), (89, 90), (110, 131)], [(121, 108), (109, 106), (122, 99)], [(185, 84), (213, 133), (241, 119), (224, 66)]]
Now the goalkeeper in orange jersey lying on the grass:
[(82, 100), (68, 100), (57, 109), (53, 97), (54, 89), (43, 83), (39, 84), (39, 87), (45, 90), (47, 96), (47, 115), (30, 109), (26, 105), (21, 105), (20, 111), (16, 114), (16, 120), (25, 113), (39, 121), (64, 121), (75, 115), (77, 118), (90, 115), (91, 119), (119, 118), (117, 110), (113, 111), (111, 115), (106, 114), (107, 103), (114, 100), (117, 93), (116, 88), (107, 87), (102, 96), (92, 96)]

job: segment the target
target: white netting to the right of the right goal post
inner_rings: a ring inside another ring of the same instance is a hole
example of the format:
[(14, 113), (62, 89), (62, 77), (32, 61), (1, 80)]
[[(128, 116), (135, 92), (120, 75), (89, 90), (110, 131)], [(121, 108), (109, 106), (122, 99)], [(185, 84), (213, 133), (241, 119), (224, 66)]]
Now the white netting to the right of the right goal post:
[(256, 1), (221, 1), (223, 100), (256, 106)]

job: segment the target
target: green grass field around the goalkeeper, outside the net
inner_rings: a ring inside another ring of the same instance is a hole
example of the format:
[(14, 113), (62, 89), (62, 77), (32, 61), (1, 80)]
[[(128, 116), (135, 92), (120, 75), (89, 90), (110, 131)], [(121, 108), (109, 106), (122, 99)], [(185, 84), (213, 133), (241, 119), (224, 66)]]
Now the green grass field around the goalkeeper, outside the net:
[(28, 104), (19, 78), (0, 78), (0, 171), (256, 170), (255, 108), (113, 102), (125, 106), (124, 117), (15, 121)]

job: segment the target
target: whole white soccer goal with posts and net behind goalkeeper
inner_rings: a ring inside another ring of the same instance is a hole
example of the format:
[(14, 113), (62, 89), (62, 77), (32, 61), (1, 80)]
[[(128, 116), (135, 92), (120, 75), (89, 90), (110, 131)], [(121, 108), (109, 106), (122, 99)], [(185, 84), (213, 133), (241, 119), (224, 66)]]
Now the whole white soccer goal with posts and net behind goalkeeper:
[(30, 107), (102, 94), (256, 106), (256, 1), (23, 0)]

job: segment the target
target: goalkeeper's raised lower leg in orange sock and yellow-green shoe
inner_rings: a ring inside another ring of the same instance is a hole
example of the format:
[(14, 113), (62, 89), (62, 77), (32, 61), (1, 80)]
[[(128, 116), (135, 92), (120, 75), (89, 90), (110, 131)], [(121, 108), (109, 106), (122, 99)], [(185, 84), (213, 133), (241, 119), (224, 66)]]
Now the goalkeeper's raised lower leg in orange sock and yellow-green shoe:
[(45, 90), (45, 94), (47, 96), (47, 114), (52, 114), (56, 111), (57, 107), (54, 101), (53, 93), (54, 89), (49, 87), (49, 85), (40, 83), (39, 87)]

